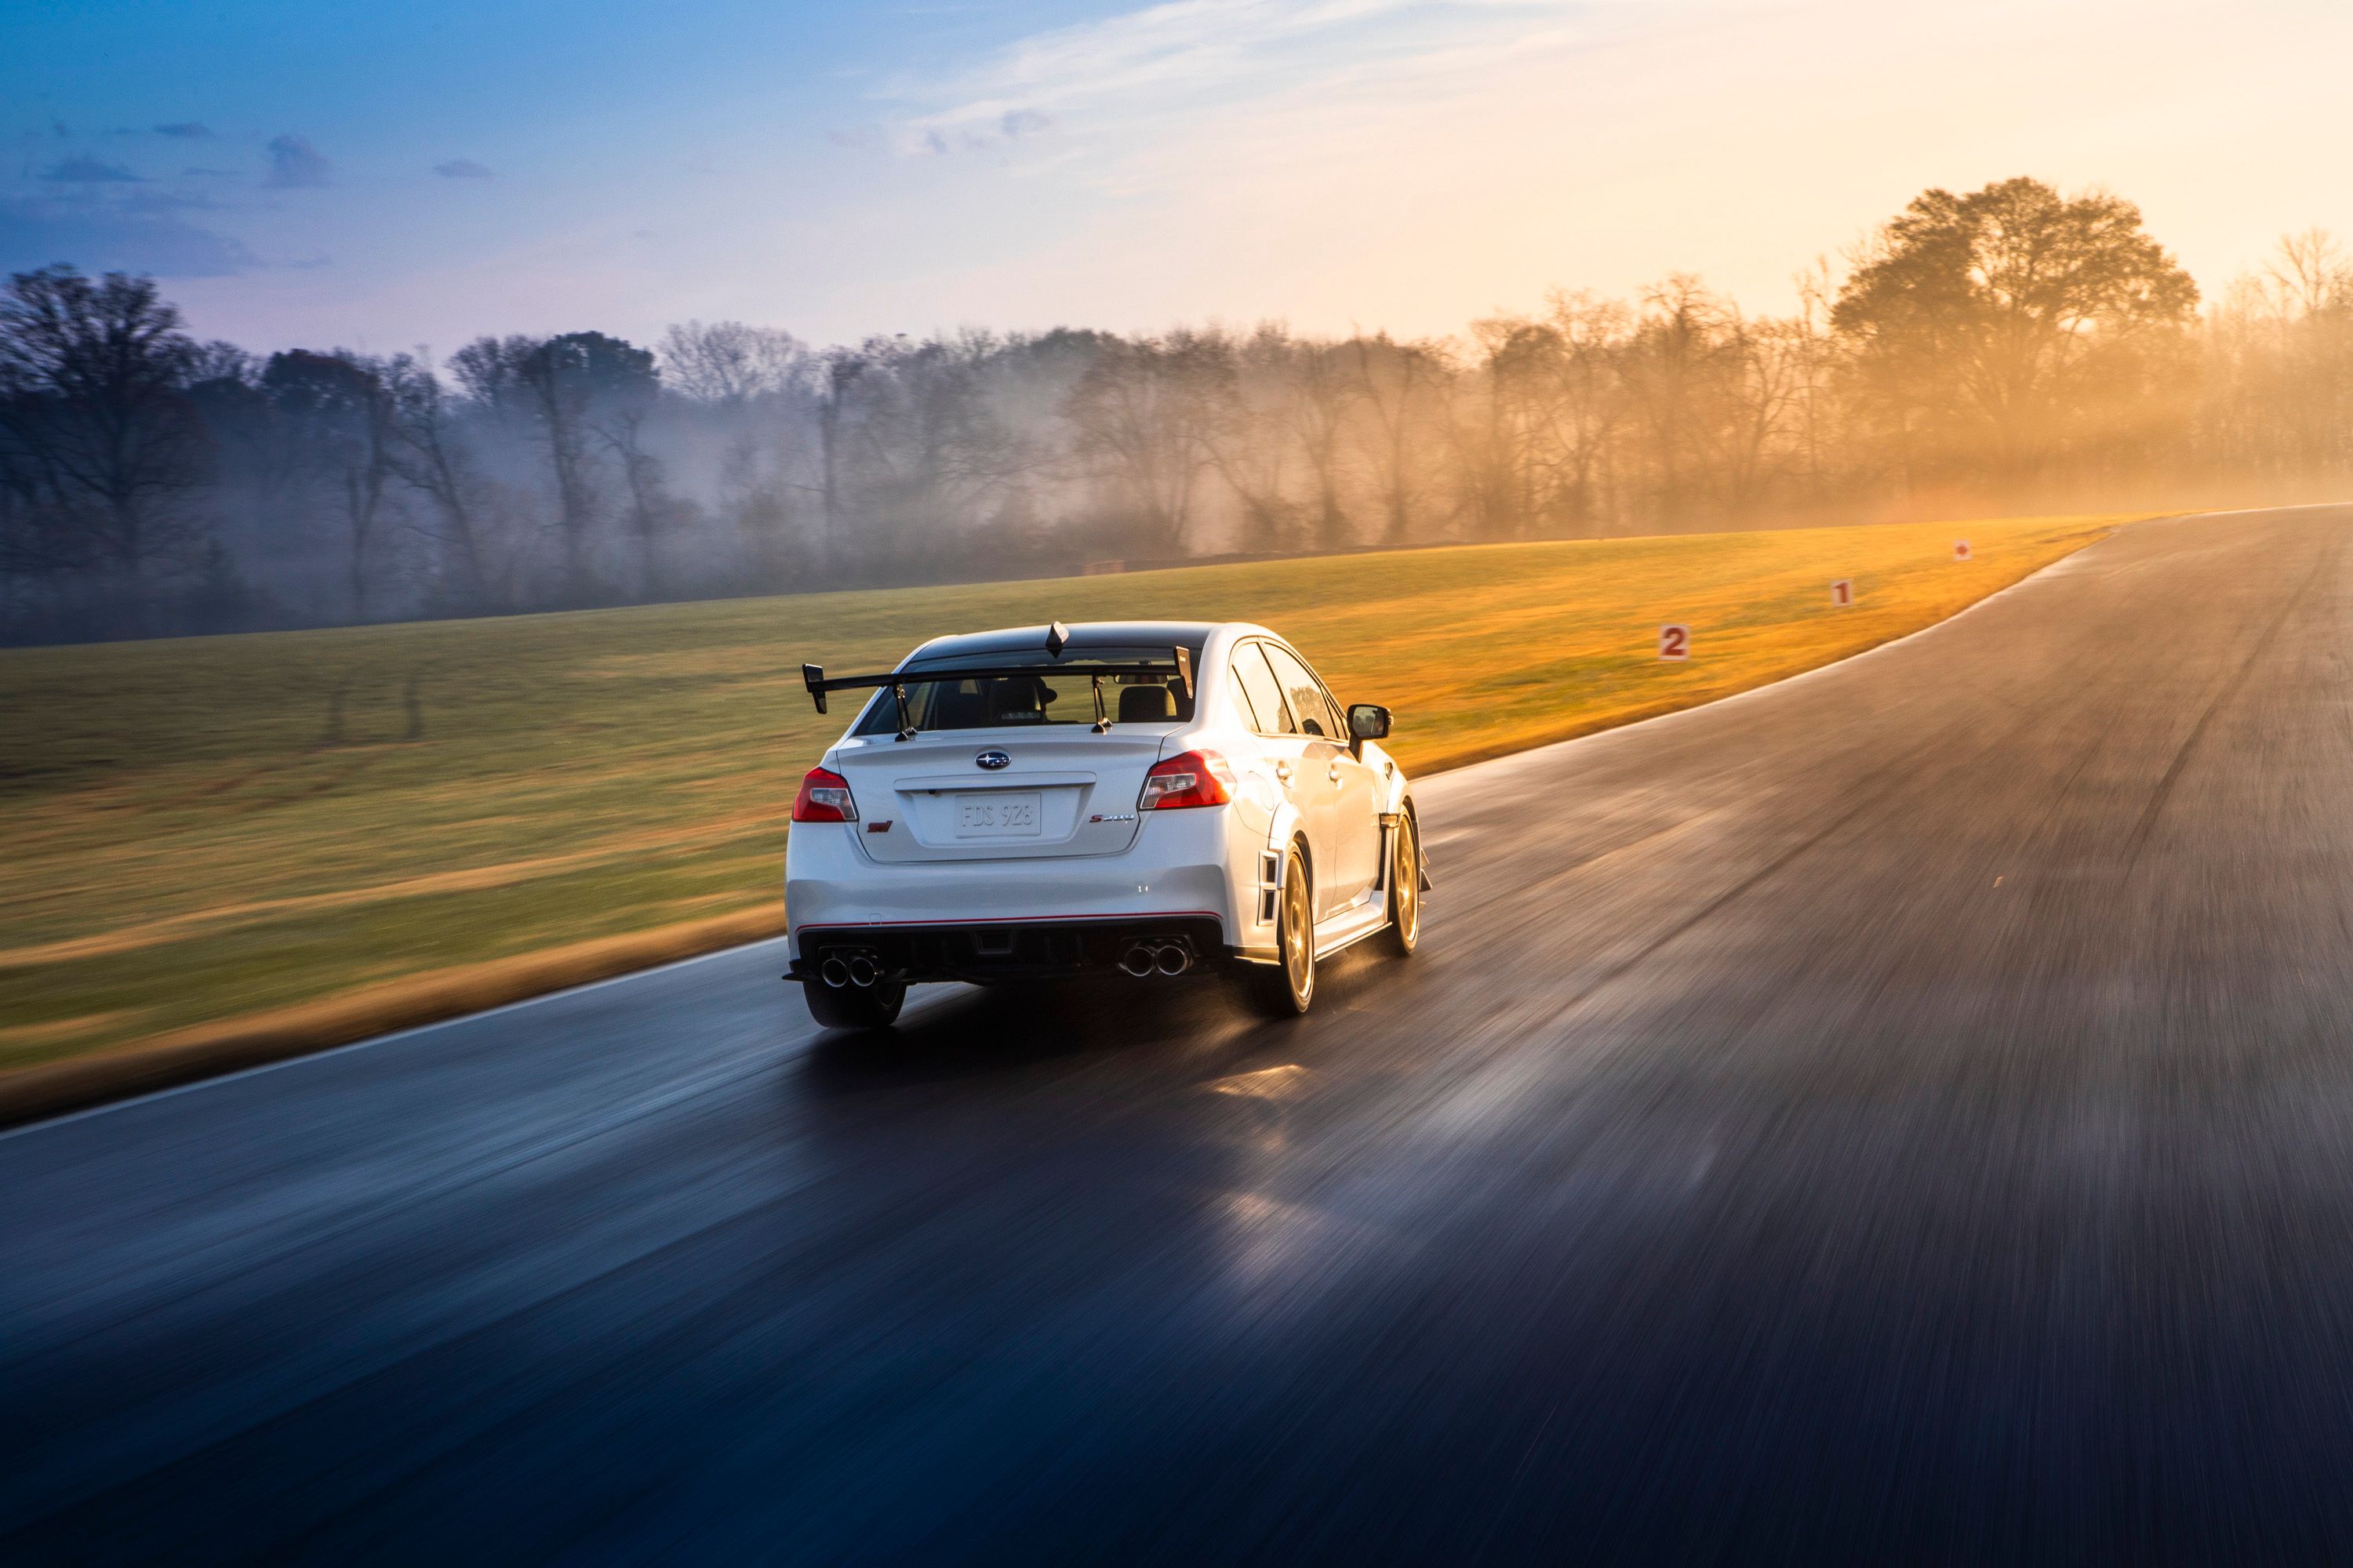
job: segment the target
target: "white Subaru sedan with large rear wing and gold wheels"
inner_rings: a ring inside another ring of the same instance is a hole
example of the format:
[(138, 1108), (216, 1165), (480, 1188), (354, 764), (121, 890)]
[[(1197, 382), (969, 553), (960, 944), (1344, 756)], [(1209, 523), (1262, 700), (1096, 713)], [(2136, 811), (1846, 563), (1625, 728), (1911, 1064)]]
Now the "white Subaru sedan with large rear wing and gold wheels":
[(882, 675), (793, 802), (784, 898), (816, 1023), (878, 1030), (922, 980), (1224, 969), (1275, 1016), (1315, 964), (1405, 957), (1428, 877), (1391, 715), (1341, 708), (1264, 625), (939, 637)]

